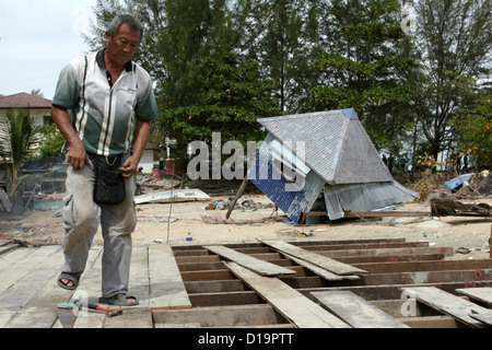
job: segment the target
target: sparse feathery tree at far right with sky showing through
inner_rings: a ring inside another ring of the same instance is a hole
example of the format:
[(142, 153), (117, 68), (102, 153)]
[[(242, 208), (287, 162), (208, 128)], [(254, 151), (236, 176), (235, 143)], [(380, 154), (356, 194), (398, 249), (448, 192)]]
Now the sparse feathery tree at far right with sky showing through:
[(490, 77), (492, 3), (490, 0), (419, 0), (414, 45), (419, 49), (420, 74), (415, 79), (417, 117), (437, 156), (455, 141), (457, 108), (465, 90), (457, 77)]

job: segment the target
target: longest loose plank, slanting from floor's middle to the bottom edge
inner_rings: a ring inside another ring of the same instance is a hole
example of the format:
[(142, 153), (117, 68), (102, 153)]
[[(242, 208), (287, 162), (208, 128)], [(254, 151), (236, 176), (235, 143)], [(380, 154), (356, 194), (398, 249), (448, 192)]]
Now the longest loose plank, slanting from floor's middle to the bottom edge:
[(277, 278), (259, 276), (235, 262), (227, 268), (298, 328), (349, 328), (339, 318)]

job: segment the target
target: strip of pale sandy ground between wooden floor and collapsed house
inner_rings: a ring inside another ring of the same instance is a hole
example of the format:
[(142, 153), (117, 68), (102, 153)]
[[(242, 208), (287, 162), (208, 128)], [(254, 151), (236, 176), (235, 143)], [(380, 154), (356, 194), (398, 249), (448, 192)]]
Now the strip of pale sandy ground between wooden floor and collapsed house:
[[(236, 187), (237, 188), (237, 187)], [(143, 187), (145, 192), (165, 190)], [(221, 200), (232, 195), (212, 196), (209, 201), (142, 203), (137, 206), (138, 224), (134, 244), (204, 245), (250, 243), (258, 240), (324, 241), (403, 237), (407, 241), (426, 241), (432, 246), (453, 247), (460, 259), (489, 258), (492, 219), (443, 217), (395, 218), (377, 220), (345, 220), (316, 225), (292, 225), (282, 213), (273, 212), (272, 202), (262, 194), (247, 192), (238, 203), (249, 205), (235, 209), (229, 221)], [(475, 201), (492, 205), (492, 198)], [(218, 208), (208, 210), (209, 203)], [(408, 202), (398, 210), (427, 211), (429, 205)], [(62, 219), (56, 209), (27, 210), (22, 215), (0, 212), (0, 237), (34, 244), (61, 244)], [(171, 222), (168, 220), (171, 214)], [(101, 230), (95, 243), (102, 243)]]

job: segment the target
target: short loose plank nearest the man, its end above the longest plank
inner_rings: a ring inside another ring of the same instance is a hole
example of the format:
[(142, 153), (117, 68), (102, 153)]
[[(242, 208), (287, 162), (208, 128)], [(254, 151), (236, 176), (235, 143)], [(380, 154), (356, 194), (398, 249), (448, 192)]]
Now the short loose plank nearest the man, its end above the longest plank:
[(204, 246), (204, 248), (261, 276), (295, 275), (295, 271), (293, 270), (254, 258), (247, 254), (236, 252), (225, 246), (208, 245)]

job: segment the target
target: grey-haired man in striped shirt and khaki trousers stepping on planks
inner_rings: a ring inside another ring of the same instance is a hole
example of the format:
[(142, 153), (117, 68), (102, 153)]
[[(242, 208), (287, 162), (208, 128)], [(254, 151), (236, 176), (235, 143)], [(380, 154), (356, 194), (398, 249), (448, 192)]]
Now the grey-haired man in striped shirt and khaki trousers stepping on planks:
[(152, 81), (131, 61), (142, 25), (117, 15), (106, 32), (107, 47), (62, 69), (51, 117), (67, 139), (67, 198), (63, 208), (65, 262), (58, 284), (73, 290), (85, 268), (101, 224), (104, 237), (99, 302), (136, 305), (128, 295), (133, 196), (140, 159), (157, 118)]

